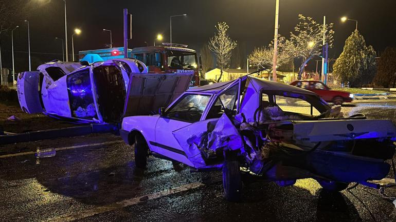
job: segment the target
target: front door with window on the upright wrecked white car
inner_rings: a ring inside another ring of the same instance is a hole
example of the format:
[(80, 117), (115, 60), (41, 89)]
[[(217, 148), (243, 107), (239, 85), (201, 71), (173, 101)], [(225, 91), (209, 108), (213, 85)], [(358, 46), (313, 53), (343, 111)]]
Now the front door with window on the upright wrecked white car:
[(149, 142), (155, 146), (158, 154), (193, 166), (172, 132), (199, 122), (210, 98), (210, 94), (186, 93), (158, 118), (155, 142)]

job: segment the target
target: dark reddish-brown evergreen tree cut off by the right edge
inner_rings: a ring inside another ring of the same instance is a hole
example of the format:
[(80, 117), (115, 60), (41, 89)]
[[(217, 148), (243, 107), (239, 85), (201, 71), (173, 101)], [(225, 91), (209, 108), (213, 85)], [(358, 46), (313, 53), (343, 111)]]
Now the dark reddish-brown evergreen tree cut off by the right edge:
[(396, 47), (386, 47), (378, 61), (374, 82), (385, 88), (396, 85)]

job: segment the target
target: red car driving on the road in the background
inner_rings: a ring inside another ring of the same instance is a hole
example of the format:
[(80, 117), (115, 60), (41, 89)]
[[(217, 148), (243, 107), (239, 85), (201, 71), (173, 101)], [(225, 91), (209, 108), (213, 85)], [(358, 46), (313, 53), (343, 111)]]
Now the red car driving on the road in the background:
[(290, 85), (312, 91), (318, 94), (326, 102), (334, 103), (335, 105), (350, 103), (353, 100), (353, 94), (346, 91), (331, 90), (328, 86), (320, 81), (297, 80)]

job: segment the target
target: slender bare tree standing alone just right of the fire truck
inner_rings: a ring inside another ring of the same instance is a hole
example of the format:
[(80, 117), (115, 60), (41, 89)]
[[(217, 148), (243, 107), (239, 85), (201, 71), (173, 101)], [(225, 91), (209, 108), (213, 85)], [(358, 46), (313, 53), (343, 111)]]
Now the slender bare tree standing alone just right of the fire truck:
[(215, 28), (217, 33), (215, 33), (214, 36), (210, 38), (209, 49), (217, 58), (217, 66), (220, 67), (220, 76), (217, 81), (220, 82), (220, 79), (223, 76), (223, 69), (228, 67), (232, 55), (232, 49), (237, 47), (237, 42), (233, 41), (228, 36), (229, 26), (227, 23), (218, 23)]

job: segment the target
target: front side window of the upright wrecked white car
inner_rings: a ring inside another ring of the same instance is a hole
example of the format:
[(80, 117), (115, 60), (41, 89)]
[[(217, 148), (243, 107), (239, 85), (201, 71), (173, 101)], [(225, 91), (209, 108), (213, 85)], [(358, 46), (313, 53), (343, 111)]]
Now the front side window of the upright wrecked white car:
[(209, 95), (187, 94), (167, 110), (166, 116), (190, 123), (197, 122), (201, 119), (209, 99)]

